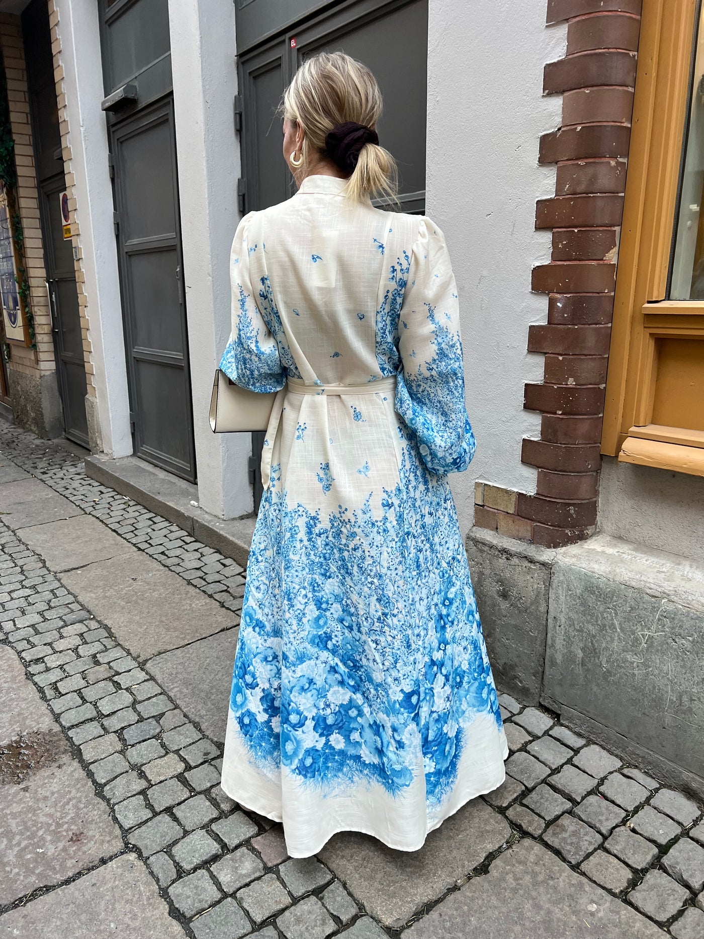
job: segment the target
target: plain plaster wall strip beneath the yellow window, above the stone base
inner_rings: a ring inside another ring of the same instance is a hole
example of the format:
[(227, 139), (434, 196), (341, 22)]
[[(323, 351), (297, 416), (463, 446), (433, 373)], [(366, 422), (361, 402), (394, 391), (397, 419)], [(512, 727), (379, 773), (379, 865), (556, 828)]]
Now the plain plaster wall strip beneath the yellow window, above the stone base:
[(602, 460), (599, 530), (616, 538), (704, 559), (704, 479)]

